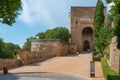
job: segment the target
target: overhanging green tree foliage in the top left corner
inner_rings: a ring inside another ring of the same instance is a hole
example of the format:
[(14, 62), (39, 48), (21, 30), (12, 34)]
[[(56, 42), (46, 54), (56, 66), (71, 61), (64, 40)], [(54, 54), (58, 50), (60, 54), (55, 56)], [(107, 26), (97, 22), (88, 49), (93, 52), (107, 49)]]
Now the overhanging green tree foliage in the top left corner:
[(0, 22), (12, 25), (21, 9), (21, 0), (0, 0)]

